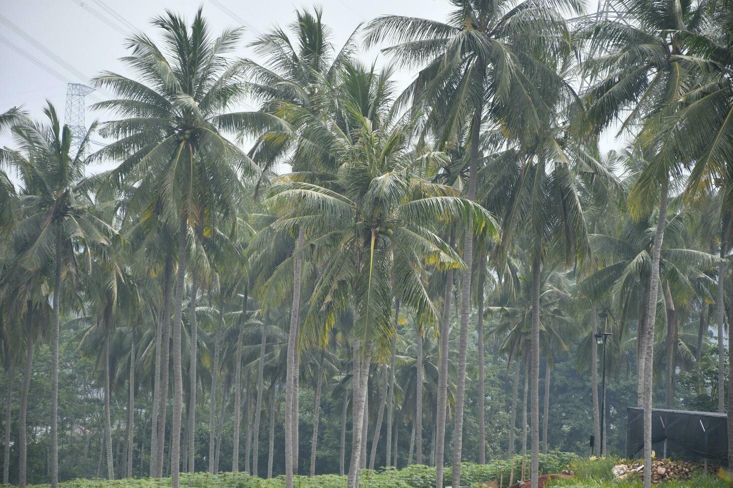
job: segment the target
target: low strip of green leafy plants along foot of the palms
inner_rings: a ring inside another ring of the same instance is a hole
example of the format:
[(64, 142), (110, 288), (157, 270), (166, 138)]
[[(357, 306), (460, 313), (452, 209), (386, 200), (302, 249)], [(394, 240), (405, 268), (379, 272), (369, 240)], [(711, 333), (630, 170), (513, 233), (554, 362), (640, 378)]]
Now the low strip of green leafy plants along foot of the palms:
[[(550, 452), (540, 454), (540, 473), (559, 473), (567, 469), (570, 462), (577, 459), (575, 454), (564, 452)], [(526, 459), (526, 472), (529, 470), (529, 457)], [(514, 479), (519, 479), (522, 467), (522, 457), (517, 456), (510, 460), (496, 460), (486, 465), (476, 465), (466, 462), (461, 465), (461, 484), (471, 486), (479, 481), (501, 481), (502, 487), (509, 486), (510, 473), (514, 468)], [(452, 468), (447, 466), (444, 470), (443, 483), (451, 484)], [(346, 476), (320, 475), (320, 476), (296, 476), (295, 488), (345, 488)], [(170, 478), (128, 478), (122, 480), (104, 479), (75, 479), (59, 483), (60, 488), (108, 488), (108, 487), (129, 487), (129, 488), (154, 488), (169, 487)], [(49, 485), (33, 485), (32, 488), (45, 488)], [(181, 487), (212, 487), (212, 488), (281, 488), (285, 486), (284, 477), (279, 476), (273, 479), (262, 479), (249, 476), (246, 473), (208, 473), (181, 474)], [(380, 471), (363, 470), (360, 478), (362, 488), (432, 488), (435, 487), (435, 468), (423, 465), (411, 465), (406, 468), (395, 470), (387, 469)]]

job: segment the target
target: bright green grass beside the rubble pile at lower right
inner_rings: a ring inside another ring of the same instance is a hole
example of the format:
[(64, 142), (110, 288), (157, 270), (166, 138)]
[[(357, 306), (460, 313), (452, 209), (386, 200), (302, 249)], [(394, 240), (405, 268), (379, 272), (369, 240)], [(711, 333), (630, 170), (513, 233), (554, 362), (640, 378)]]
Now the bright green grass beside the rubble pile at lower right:
[[(622, 462), (615, 457), (601, 459), (576, 458), (570, 462), (573, 476), (570, 479), (553, 480), (548, 487), (563, 488), (641, 488), (640, 479), (617, 480), (611, 470)], [(660, 488), (728, 488), (729, 484), (716, 473), (700, 473), (685, 481), (665, 481)]]

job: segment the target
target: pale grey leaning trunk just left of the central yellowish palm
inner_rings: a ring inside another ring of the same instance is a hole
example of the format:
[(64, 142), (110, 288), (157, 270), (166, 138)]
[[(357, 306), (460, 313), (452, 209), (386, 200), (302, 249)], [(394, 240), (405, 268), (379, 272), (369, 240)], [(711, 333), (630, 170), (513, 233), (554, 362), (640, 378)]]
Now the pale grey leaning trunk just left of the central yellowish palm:
[(292, 405), (293, 389), (295, 387), (295, 342), (298, 339), (298, 320), (301, 312), (301, 269), (303, 256), (301, 249), (306, 240), (303, 228), (298, 230), (298, 239), (295, 241), (293, 278), (292, 278), (292, 307), (290, 309), (290, 332), (287, 338), (287, 369), (285, 374), (285, 488), (292, 488)]

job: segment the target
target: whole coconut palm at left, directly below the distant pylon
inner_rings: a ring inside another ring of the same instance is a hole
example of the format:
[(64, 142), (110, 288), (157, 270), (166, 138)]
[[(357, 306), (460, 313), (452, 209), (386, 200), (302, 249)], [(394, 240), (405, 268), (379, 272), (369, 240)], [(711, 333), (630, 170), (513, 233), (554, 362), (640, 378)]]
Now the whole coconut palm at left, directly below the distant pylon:
[[(54, 105), (49, 102), (43, 113), (47, 124), (22, 121), (12, 128), (18, 149), (4, 151), (4, 164), (23, 173), (32, 182), (23, 195), (26, 214), (18, 222), (15, 235), (23, 253), (18, 256), (25, 269), (37, 271), (54, 263), (53, 327), (51, 338), (51, 485), (59, 482), (58, 397), (59, 397), (59, 319), (61, 316), (62, 277), (75, 274), (75, 244), (90, 247), (106, 245), (114, 230), (98, 217), (92, 196), (92, 179), (85, 177), (88, 163), (84, 151), (96, 124), (81, 139), (75, 154), (71, 152), (71, 131), (61, 125)], [(66, 282), (72, 279), (66, 279)]]

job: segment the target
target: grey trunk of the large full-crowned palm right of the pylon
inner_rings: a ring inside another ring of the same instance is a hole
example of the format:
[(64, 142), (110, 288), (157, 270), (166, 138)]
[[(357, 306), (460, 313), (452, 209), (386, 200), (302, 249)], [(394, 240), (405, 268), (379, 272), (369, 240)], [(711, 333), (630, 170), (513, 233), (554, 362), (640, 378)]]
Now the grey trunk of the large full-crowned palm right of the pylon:
[(181, 315), (183, 307), (183, 280), (185, 279), (186, 230), (188, 220), (183, 218), (178, 229), (178, 271), (173, 306), (173, 421), (171, 432), (171, 487), (180, 484), (181, 414), (183, 410), (183, 370), (181, 369)]

